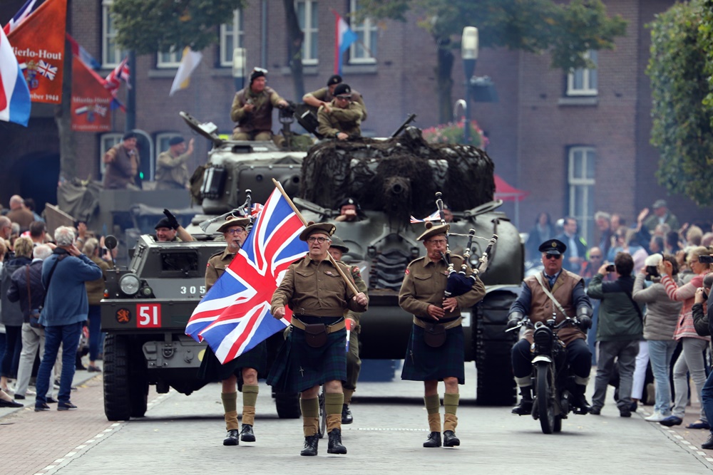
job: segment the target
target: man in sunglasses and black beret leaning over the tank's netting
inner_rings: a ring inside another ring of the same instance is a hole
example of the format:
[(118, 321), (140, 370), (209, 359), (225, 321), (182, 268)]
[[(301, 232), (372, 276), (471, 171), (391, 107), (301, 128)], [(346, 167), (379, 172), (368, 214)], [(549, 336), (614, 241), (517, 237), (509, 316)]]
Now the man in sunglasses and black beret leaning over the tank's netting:
[(353, 100), (352, 88), (341, 83), (334, 88), (334, 99), (329, 105), (322, 105), (317, 112), (322, 137), (347, 140), (361, 136), (361, 121), (366, 117), (364, 108)]

